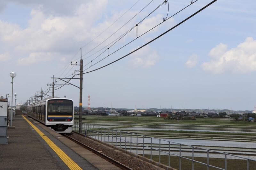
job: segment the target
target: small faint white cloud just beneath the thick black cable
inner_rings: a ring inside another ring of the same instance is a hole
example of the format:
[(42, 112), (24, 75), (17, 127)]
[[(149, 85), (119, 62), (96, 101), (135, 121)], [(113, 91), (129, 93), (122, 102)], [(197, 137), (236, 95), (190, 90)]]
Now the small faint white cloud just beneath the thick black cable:
[(156, 50), (148, 45), (133, 53), (130, 63), (133, 67), (149, 68), (154, 66), (158, 60), (159, 55), (156, 53)]

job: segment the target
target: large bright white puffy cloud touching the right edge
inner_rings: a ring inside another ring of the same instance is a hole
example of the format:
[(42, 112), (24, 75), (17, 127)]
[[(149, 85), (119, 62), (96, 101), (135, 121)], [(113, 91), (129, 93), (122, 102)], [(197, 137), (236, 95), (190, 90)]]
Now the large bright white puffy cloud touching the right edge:
[(256, 40), (247, 37), (236, 48), (227, 50), (227, 45), (219, 44), (209, 53), (211, 61), (202, 68), (212, 73), (246, 73), (256, 71)]

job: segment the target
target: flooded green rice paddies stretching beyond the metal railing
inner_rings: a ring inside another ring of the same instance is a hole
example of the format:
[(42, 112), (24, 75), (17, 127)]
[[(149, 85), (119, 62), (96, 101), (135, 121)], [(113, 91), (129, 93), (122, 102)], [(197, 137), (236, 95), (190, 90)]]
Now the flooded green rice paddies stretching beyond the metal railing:
[[(78, 121), (78, 116), (76, 115), (75, 117), (75, 121)], [(197, 118), (195, 121), (176, 121), (164, 120), (164, 118), (157, 118), (155, 116), (136, 117), (96, 115), (83, 116), (83, 122), (148, 137), (170, 140), (177, 143), (185, 142), (184, 144), (256, 159), (256, 122), (234, 122), (231, 121), (231, 119), (225, 118)], [(118, 143), (118, 145), (119, 144), (120, 143)], [(121, 144), (124, 147), (124, 142)], [(161, 145), (161, 148), (168, 150), (168, 146)], [(172, 149), (175, 150), (177, 148), (172, 146)], [(139, 154), (141, 154), (142, 149), (139, 148), (139, 151)], [(173, 152), (178, 151), (176, 150)], [(184, 152), (184, 154), (189, 154), (191, 151), (186, 151), (186, 148), (183, 148), (182, 152)], [(197, 151), (197, 154), (200, 155), (200, 153), (203, 152)], [(150, 155), (145, 156), (148, 158), (150, 157)], [(153, 160), (158, 161), (158, 155), (153, 155)], [(202, 155), (196, 157), (196, 160), (204, 163), (207, 162), (206, 158)], [(162, 155), (161, 163), (168, 165), (168, 156)], [(218, 156), (216, 158), (210, 158), (210, 164), (224, 168), (224, 159), (221, 159)], [(207, 169), (206, 166), (198, 163), (195, 163), (194, 165), (195, 169)], [(171, 166), (179, 169), (178, 157), (172, 156)], [(255, 166), (256, 161), (250, 161), (250, 167)], [(182, 159), (182, 169), (191, 169), (191, 167), (191, 161)], [(246, 169), (246, 161), (228, 159), (228, 169), (237, 169), (237, 167)]]

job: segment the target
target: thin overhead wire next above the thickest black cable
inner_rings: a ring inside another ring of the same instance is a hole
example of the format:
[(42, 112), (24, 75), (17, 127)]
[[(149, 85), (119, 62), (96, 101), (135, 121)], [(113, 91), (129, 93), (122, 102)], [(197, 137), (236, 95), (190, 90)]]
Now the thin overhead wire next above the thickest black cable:
[[(196, 1), (198, 1), (198, 0), (196, 0)], [(196, 2), (196, 1), (195, 1), (195, 2)], [(195, 2), (193, 2), (193, 4), (194, 4)], [(191, 4), (192, 4), (192, 3), (191, 3)], [(173, 14), (172, 16), (170, 16), (169, 18), (163, 20), (161, 23), (159, 23), (159, 24), (157, 24), (156, 26), (152, 27), (151, 29), (149, 29), (149, 30), (146, 31), (145, 33), (141, 34), (141, 35), (138, 36), (137, 38), (140, 38), (141, 36), (143, 36), (144, 34), (148, 33), (149, 31), (151, 31), (152, 29), (156, 28), (157, 26), (161, 25), (162, 23), (164, 23), (164, 22), (167, 21), (168, 19), (172, 18), (173, 16), (177, 15), (177, 14), (180, 13), (181, 11), (185, 10), (185, 9), (188, 8), (191, 4), (187, 5), (186, 7), (184, 7), (183, 9), (181, 9), (180, 11), (178, 11), (178, 12), (176, 12), (175, 14)], [(124, 46), (118, 48), (116, 51), (112, 52), (111, 54), (108, 54), (106, 57), (104, 57), (104, 58), (101, 59), (100, 61), (94, 63), (93, 65), (95, 65), (95, 64), (97, 64), (97, 63), (99, 63), (99, 62), (101, 62), (102, 60), (106, 59), (108, 56), (110, 56), (110, 55), (116, 53), (116, 52), (119, 51), (120, 49), (122, 49), (122, 48), (124, 48), (125, 46), (129, 45), (129, 44), (132, 43), (133, 41), (137, 40), (137, 38), (135, 38), (135, 39), (133, 39), (132, 41), (128, 42), (128, 43), (125, 44)], [(98, 56), (97, 56), (97, 57), (98, 57)], [(88, 65), (88, 64), (89, 64), (89, 63), (87, 63), (86, 65)], [(93, 65), (92, 65), (92, 66), (93, 66)], [(91, 68), (92, 66), (90, 66), (89, 68)], [(89, 68), (87, 68), (87, 69), (85, 69), (85, 70), (88, 70)], [(84, 71), (85, 71), (85, 70), (84, 70)]]

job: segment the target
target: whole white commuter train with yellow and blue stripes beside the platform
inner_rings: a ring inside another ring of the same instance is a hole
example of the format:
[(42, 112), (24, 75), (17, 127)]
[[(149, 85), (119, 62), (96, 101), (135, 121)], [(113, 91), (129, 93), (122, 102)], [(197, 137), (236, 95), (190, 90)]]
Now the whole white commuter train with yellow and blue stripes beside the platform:
[(57, 133), (71, 133), (74, 124), (74, 101), (48, 97), (29, 105), (28, 116)]

